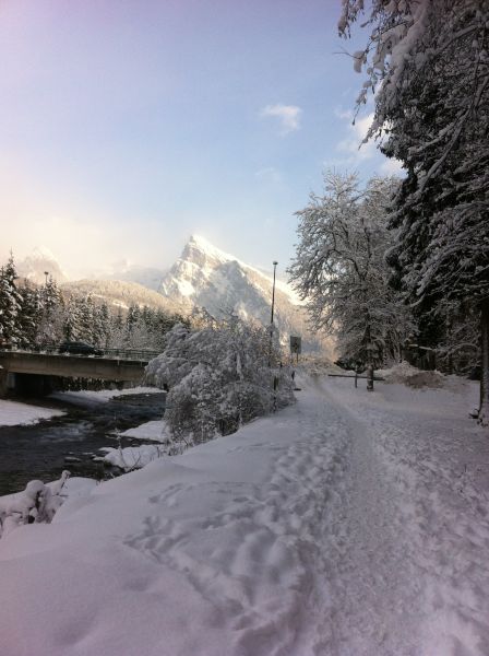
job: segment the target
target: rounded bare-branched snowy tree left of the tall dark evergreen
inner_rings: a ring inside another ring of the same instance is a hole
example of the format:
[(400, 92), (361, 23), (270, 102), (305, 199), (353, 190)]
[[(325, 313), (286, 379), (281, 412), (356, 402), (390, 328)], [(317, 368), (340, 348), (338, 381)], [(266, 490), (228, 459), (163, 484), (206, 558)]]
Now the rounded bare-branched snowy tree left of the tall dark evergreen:
[(313, 327), (339, 336), (343, 358), (374, 365), (398, 358), (414, 330), (387, 284), (384, 262), (393, 239), (386, 208), (395, 185), (374, 178), (361, 190), (355, 174), (327, 173), (324, 196), (311, 196), (297, 212), (299, 244), (289, 269)]

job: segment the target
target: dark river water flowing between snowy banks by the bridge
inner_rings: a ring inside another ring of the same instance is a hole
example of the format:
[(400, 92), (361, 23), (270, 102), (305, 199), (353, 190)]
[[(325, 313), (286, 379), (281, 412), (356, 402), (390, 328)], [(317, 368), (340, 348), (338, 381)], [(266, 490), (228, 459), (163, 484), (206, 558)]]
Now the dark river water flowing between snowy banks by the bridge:
[[(41, 405), (39, 399), (15, 400)], [(118, 446), (118, 431), (160, 419), (164, 402), (164, 394), (127, 395), (108, 402), (49, 399), (43, 405), (67, 414), (34, 425), (0, 426), (0, 495), (19, 492), (33, 479), (53, 481), (63, 469), (72, 476), (110, 478), (115, 472), (103, 462), (93, 461), (93, 456), (103, 455), (98, 449), (104, 446)], [(121, 437), (122, 446), (143, 443)]]

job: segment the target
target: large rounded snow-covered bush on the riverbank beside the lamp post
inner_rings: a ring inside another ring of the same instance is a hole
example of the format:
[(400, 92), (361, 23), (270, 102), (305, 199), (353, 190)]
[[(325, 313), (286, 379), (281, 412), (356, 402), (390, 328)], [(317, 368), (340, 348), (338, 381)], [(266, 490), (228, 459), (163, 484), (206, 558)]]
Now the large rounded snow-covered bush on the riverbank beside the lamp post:
[(194, 331), (176, 325), (147, 365), (146, 383), (169, 389), (165, 419), (172, 437), (189, 444), (232, 433), (294, 400), (270, 330), (235, 317)]

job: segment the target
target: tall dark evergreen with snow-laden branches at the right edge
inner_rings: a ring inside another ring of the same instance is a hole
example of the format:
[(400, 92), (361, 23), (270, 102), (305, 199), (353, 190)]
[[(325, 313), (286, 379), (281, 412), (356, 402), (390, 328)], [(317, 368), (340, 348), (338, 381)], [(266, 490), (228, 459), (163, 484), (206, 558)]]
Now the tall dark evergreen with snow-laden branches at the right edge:
[[(363, 11), (344, 0), (342, 34)], [(420, 314), (444, 300), (480, 317), (481, 421), (489, 414), (489, 4), (373, 0), (355, 67), (359, 102), (375, 89), (369, 137), (407, 172), (395, 202), (390, 263)], [(382, 83), (380, 85), (380, 82)]]

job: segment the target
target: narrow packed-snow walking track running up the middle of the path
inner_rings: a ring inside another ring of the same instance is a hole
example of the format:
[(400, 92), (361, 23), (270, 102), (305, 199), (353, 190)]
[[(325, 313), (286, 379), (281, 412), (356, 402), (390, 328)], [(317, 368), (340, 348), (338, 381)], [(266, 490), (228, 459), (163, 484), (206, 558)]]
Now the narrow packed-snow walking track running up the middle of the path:
[(323, 653), (418, 654), (421, 584), (409, 567), (409, 527), (398, 513), (402, 496), (383, 476), (365, 423), (347, 408), (342, 417), (336, 422), (348, 435), (348, 469), (330, 507), (333, 520), (323, 527), (332, 628)]

